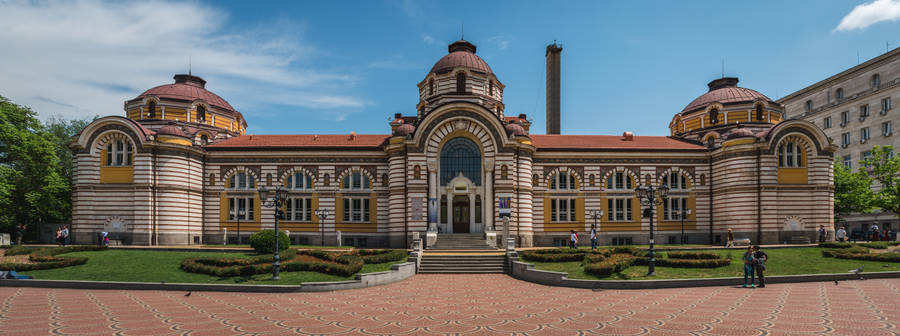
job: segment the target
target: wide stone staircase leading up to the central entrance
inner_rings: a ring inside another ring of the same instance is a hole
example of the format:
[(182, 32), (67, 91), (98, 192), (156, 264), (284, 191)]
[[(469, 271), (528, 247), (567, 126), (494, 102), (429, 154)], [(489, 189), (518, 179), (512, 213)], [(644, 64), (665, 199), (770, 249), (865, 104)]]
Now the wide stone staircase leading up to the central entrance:
[(480, 234), (442, 234), (422, 255), (419, 273), (506, 273), (506, 255)]

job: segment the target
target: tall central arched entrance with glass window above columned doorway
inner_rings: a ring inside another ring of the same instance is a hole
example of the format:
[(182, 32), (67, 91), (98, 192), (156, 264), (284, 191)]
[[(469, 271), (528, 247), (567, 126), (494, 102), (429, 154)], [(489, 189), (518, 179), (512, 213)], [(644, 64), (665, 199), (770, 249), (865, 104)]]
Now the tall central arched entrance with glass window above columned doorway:
[(469, 138), (450, 139), (441, 149), (438, 184), (441, 233), (484, 232), (481, 163), (481, 150)]

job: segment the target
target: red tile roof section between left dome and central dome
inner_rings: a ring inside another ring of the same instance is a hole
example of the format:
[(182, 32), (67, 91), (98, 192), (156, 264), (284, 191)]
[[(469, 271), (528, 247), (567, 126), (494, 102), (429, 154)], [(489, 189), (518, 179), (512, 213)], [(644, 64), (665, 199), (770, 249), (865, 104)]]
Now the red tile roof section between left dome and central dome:
[(242, 135), (207, 148), (380, 148), (389, 134), (266, 134)]

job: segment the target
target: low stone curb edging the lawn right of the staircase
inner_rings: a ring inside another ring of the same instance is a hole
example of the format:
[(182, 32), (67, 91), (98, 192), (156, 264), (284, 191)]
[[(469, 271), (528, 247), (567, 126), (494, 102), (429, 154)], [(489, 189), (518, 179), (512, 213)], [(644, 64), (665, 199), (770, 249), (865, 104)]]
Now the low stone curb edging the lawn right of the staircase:
[[(703, 279), (665, 279), (665, 280), (581, 280), (569, 279), (568, 273), (534, 269), (534, 265), (521, 261), (510, 263), (510, 276), (547, 286), (572, 287), (585, 289), (658, 289), (687, 288), (710, 286), (740, 286), (744, 278), (703, 278)], [(801, 274), (767, 276), (766, 284), (847, 281), (866, 279), (900, 278), (900, 272), (863, 272), (832, 274)]]

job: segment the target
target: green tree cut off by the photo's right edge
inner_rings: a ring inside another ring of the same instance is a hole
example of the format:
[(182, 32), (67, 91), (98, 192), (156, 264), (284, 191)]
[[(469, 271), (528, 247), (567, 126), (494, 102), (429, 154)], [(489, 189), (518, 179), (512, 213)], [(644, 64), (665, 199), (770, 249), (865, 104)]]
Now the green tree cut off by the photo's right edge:
[(875, 146), (862, 164), (860, 171), (876, 182), (873, 205), (900, 214), (900, 157), (894, 156), (894, 148)]

